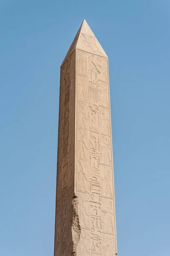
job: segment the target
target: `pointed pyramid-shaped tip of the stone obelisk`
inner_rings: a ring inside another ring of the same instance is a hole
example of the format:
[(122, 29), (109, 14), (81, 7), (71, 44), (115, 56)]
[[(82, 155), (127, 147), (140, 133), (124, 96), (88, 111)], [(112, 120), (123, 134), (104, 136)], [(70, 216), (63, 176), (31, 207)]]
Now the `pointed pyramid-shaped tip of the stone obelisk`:
[(75, 36), (61, 66), (75, 49), (83, 50), (102, 57), (108, 57), (85, 19), (82, 21), (77, 35)]

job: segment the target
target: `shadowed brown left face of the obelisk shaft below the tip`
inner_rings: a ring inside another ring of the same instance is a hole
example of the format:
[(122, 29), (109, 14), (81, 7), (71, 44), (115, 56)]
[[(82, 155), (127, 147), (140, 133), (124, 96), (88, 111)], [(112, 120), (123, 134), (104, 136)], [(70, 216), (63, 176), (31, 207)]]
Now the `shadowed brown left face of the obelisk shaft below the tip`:
[(72, 253), (75, 52), (61, 67), (54, 256)]

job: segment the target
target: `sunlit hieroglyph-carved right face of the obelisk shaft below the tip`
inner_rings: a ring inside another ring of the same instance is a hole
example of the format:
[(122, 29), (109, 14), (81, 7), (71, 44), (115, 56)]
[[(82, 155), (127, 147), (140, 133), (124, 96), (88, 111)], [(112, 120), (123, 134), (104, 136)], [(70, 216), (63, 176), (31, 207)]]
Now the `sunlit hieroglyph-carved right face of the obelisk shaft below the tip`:
[[(79, 56), (85, 56), (81, 67)], [(79, 243), (77, 256), (86, 255), (88, 249), (89, 255), (113, 256), (116, 231), (107, 58), (77, 50), (78, 76), (82, 67), (87, 71), (81, 86), (77, 81), (77, 192), (80, 226), (89, 230), (90, 244), (85, 250), (85, 244)]]

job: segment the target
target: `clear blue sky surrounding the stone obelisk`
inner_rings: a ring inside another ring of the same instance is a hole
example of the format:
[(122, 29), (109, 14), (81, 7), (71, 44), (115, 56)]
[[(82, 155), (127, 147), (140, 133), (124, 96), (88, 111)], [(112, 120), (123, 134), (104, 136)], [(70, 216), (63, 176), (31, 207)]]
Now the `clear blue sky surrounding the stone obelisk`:
[(52, 256), (59, 72), (109, 57), (119, 256), (170, 256), (170, 1), (0, 0), (0, 256)]

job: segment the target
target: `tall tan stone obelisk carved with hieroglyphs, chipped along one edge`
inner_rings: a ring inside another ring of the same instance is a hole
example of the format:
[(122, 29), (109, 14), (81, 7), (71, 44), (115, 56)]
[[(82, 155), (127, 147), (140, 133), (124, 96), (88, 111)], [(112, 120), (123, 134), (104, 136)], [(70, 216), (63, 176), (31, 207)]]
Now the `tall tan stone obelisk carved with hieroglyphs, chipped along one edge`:
[(82, 25), (61, 65), (54, 256), (115, 256), (108, 57)]

